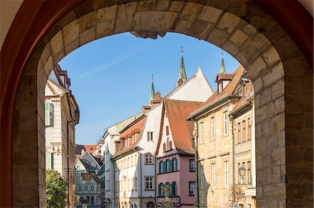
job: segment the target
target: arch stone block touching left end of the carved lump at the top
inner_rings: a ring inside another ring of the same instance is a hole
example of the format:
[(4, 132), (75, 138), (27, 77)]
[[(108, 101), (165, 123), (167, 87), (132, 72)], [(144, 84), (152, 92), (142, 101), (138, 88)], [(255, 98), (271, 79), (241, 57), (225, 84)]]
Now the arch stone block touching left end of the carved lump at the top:
[(126, 32), (131, 28), (133, 15), (135, 14), (137, 2), (126, 3), (119, 6), (114, 33)]

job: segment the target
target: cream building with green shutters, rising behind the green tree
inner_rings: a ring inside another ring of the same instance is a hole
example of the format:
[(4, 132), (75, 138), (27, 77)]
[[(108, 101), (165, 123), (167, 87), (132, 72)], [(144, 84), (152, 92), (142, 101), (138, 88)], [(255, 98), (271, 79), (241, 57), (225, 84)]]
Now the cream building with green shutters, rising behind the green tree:
[(68, 207), (75, 207), (75, 125), (79, 120), (70, 79), (57, 65), (45, 87), (45, 163), (46, 170), (57, 170), (68, 182)]

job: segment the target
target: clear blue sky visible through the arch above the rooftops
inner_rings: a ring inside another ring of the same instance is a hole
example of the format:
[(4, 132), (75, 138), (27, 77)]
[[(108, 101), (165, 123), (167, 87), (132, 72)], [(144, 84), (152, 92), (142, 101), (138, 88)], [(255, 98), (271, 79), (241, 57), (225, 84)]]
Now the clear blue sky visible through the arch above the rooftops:
[[(59, 65), (68, 70), (73, 95), (80, 106), (80, 124), (76, 126), (77, 144), (96, 144), (105, 129), (140, 113), (149, 102), (151, 74), (161, 96), (176, 86), (184, 47), (186, 75), (197, 67), (216, 90), (221, 49), (209, 42), (177, 33), (157, 40), (135, 38), (130, 33), (100, 38), (63, 58)], [(227, 73), (240, 64), (224, 52)]]

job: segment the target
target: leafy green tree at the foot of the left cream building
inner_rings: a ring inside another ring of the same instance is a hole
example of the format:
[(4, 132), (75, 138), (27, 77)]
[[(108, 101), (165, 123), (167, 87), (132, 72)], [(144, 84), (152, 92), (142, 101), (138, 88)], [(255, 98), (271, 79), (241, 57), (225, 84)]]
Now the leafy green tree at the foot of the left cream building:
[(66, 207), (66, 186), (57, 170), (46, 170), (47, 207)]

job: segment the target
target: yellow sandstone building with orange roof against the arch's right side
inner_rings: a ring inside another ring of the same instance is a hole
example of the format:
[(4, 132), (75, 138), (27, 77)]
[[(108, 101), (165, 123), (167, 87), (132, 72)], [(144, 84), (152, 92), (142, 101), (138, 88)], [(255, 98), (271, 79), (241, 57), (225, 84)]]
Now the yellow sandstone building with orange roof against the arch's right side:
[(188, 118), (195, 121), (195, 206), (255, 207), (253, 86), (241, 65), (226, 74), (223, 59), (216, 83), (216, 92)]

